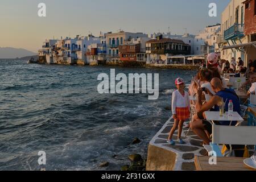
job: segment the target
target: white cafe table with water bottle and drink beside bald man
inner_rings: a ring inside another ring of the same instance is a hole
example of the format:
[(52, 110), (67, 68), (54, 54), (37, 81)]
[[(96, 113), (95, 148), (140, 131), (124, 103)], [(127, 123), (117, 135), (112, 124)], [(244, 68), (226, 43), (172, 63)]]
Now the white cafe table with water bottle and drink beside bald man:
[(207, 121), (212, 122), (213, 125), (215, 125), (214, 121), (226, 121), (229, 122), (229, 125), (231, 125), (233, 121), (237, 121), (239, 124), (244, 121), (237, 112), (232, 112), (232, 116), (229, 116), (228, 112), (220, 116), (220, 111), (205, 111), (205, 117)]

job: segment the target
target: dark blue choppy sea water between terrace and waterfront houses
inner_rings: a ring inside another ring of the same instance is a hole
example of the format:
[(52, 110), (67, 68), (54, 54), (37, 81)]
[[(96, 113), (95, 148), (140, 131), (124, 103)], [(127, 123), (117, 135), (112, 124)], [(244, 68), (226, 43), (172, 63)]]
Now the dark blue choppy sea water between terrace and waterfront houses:
[[(99, 94), (97, 76), (159, 73), (159, 98), (147, 94)], [(0, 170), (119, 170), (133, 153), (147, 157), (151, 138), (171, 117), (175, 78), (195, 71), (78, 67), (0, 60)], [(133, 139), (139, 144), (131, 144)], [(117, 157), (113, 157), (117, 155)]]

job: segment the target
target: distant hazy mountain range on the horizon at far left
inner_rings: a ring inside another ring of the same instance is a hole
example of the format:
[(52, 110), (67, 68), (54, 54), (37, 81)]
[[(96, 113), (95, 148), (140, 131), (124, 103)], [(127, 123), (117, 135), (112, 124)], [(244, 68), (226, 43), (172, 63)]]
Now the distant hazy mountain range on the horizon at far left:
[(21, 48), (0, 47), (0, 59), (16, 59), (20, 57), (35, 56), (37, 53)]

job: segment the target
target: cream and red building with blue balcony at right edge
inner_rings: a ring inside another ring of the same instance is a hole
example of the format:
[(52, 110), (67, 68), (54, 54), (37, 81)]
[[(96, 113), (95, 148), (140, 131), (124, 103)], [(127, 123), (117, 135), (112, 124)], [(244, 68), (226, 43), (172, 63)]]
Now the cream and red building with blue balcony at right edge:
[(221, 16), (221, 59), (238, 57), (245, 62), (256, 57), (256, 7), (255, 0), (232, 0)]

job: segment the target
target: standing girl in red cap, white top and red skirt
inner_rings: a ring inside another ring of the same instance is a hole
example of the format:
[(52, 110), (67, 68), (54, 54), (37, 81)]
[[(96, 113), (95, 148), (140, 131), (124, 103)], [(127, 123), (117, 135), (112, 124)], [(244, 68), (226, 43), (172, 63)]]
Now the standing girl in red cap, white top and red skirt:
[(174, 126), (172, 127), (167, 140), (167, 142), (172, 145), (175, 144), (174, 140), (172, 140), (172, 136), (174, 135), (174, 132), (177, 130), (178, 127), (179, 132), (177, 141), (180, 144), (185, 144), (185, 142), (181, 139), (181, 133), (184, 121), (190, 118), (189, 94), (184, 90), (185, 85), (183, 79), (177, 78), (175, 81), (175, 85), (177, 87), (177, 90), (172, 93), (172, 114), (174, 118)]

